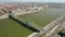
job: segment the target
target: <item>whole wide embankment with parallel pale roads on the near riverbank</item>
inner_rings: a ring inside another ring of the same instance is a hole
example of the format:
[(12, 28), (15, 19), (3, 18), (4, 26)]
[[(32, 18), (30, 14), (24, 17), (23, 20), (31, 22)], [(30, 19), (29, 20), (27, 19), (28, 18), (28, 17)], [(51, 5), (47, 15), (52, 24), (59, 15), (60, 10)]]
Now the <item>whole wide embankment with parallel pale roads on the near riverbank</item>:
[(60, 28), (60, 26), (63, 24), (63, 22), (65, 22), (64, 16), (57, 17), (55, 21), (52, 21), (50, 24), (48, 24), (47, 26), (42, 27), (43, 30), (41, 30), (40, 33), (38, 33), (38, 36), (52, 36), (54, 35), (57, 29)]

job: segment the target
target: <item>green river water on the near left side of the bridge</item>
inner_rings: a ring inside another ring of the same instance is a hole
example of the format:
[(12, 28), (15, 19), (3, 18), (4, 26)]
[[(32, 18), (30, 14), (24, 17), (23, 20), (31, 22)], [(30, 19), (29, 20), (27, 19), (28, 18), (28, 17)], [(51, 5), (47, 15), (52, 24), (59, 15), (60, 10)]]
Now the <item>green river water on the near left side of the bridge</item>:
[(32, 32), (10, 18), (0, 20), (0, 37), (27, 37)]

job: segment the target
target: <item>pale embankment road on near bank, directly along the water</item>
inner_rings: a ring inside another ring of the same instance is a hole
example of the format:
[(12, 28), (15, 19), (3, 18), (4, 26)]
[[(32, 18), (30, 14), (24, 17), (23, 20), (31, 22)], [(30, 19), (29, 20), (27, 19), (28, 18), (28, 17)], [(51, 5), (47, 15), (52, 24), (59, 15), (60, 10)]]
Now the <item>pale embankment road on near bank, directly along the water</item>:
[(43, 30), (41, 30), (39, 33), (39, 36), (43, 36), (44, 34), (48, 34), (48, 32), (50, 32), (51, 29), (53, 29), (54, 26), (56, 26), (57, 24), (60, 24), (60, 22), (63, 20), (64, 16), (57, 17), (56, 20), (52, 21), (50, 24), (48, 24), (47, 26), (42, 27)]

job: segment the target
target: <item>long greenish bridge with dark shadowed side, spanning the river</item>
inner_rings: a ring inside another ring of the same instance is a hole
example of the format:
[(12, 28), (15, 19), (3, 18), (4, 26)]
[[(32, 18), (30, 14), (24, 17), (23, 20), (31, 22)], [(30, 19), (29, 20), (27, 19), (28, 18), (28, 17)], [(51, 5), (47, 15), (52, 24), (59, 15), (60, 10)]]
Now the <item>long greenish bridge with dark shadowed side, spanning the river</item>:
[(36, 25), (34, 22), (31, 22), (30, 20), (28, 20), (28, 22), (24, 21), (23, 18), (18, 18), (16, 15), (14, 15), (13, 13), (9, 14), (9, 17), (17, 23), (20, 23), (22, 26), (32, 30), (32, 32), (37, 32), (39, 33), (40, 30), (43, 30), (42, 27)]

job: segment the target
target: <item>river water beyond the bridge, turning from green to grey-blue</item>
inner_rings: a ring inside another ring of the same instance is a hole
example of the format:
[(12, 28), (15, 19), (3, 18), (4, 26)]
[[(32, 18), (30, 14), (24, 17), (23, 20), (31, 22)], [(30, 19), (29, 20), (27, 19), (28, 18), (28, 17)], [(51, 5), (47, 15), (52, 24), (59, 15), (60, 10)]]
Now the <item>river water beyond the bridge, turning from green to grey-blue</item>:
[(20, 15), (18, 17), (25, 21), (30, 20), (39, 26), (46, 26), (62, 14), (65, 14), (64, 9), (47, 9), (36, 13)]

